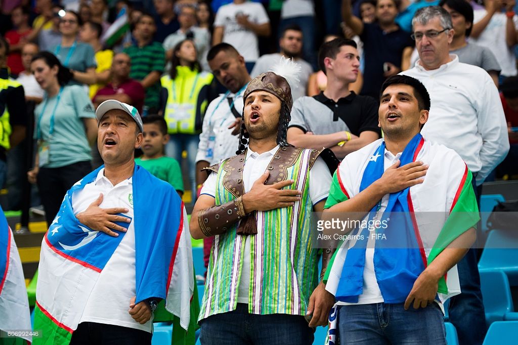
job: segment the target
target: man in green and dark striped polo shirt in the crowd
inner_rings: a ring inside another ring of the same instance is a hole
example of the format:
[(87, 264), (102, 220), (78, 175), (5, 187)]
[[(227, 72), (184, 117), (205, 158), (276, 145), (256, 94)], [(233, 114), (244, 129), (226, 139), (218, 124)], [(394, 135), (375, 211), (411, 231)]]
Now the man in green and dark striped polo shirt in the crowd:
[(153, 42), (155, 31), (153, 17), (143, 13), (135, 28), (137, 44), (124, 49), (131, 57), (130, 78), (140, 81), (146, 89), (143, 116), (159, 110), (160, 77), (165, 66), (165, 51), (159, 42)]

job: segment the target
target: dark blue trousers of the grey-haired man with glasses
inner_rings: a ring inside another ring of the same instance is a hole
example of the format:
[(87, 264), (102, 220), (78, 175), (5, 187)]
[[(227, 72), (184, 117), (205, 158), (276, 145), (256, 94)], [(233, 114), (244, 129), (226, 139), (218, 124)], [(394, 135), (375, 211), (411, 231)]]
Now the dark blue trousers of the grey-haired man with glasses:
[[(480, 190), (474, 182), (476, 175), (473, 175), (473, 190), (477, 196), (477, 203), (479, 203)], [(457, 263), (461, 294), (450, 298), (448, 307), (450, 322), (457, 329), (461, 345), (482, 344), (487, 330), (477, 262), (477, 249), (470, 248)]]

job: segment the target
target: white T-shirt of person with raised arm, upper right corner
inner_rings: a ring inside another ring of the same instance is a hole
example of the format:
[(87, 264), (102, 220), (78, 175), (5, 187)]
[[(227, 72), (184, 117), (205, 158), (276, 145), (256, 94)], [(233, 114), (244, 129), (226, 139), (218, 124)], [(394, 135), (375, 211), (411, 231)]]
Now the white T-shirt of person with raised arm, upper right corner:
[[(473, 11), (473, 23), (478, 23), (486, 15), (485, 9)], [(513, 17), (514, 27), (518, 28), (518, 16)], [(505, 77), (512, 77), (517, 74), (516, 56), (512, 48), (506, 42), (506, 13), (495, 13), (479, 38), (470, 37), (471, 42), (489, 48), (496, 56), (500, 65), (500, 74)]]

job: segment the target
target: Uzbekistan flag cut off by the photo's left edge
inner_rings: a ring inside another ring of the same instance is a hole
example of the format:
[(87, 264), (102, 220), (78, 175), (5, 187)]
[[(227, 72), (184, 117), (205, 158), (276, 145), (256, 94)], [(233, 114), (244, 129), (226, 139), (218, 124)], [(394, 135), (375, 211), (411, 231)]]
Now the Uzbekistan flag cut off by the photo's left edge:
[[(22, 262), (15, 238), (0, 207), (0, 329), (31, 330), (31, 314), (25, 290)], [(31, 341), (31, 336), (22, 337)], [(2, 339), (0, 339), (2, 343)]]

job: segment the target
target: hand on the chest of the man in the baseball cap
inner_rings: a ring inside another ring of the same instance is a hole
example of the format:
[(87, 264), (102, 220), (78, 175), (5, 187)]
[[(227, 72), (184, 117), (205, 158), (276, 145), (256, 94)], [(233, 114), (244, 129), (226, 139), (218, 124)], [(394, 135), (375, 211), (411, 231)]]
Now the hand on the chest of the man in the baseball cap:
[(131, 219), (116, 215), (117, 213), (125, 213), (129, 210), (127, 208), (113, 207), (113, 208), (100, 208), (99, 205), (103, 202), (103, 193), (99, 194), (99, 197), (92, 203), (86, 210), (76, 215), (76, 218), (82, 224), (88, 226), (92, 230), (101, 231), (113, 237), (119, 236), (119, 234), (112, 230), (126, 232), (126, 228), (115, 224), (114, 222), (125, 222), (130, 223)]

